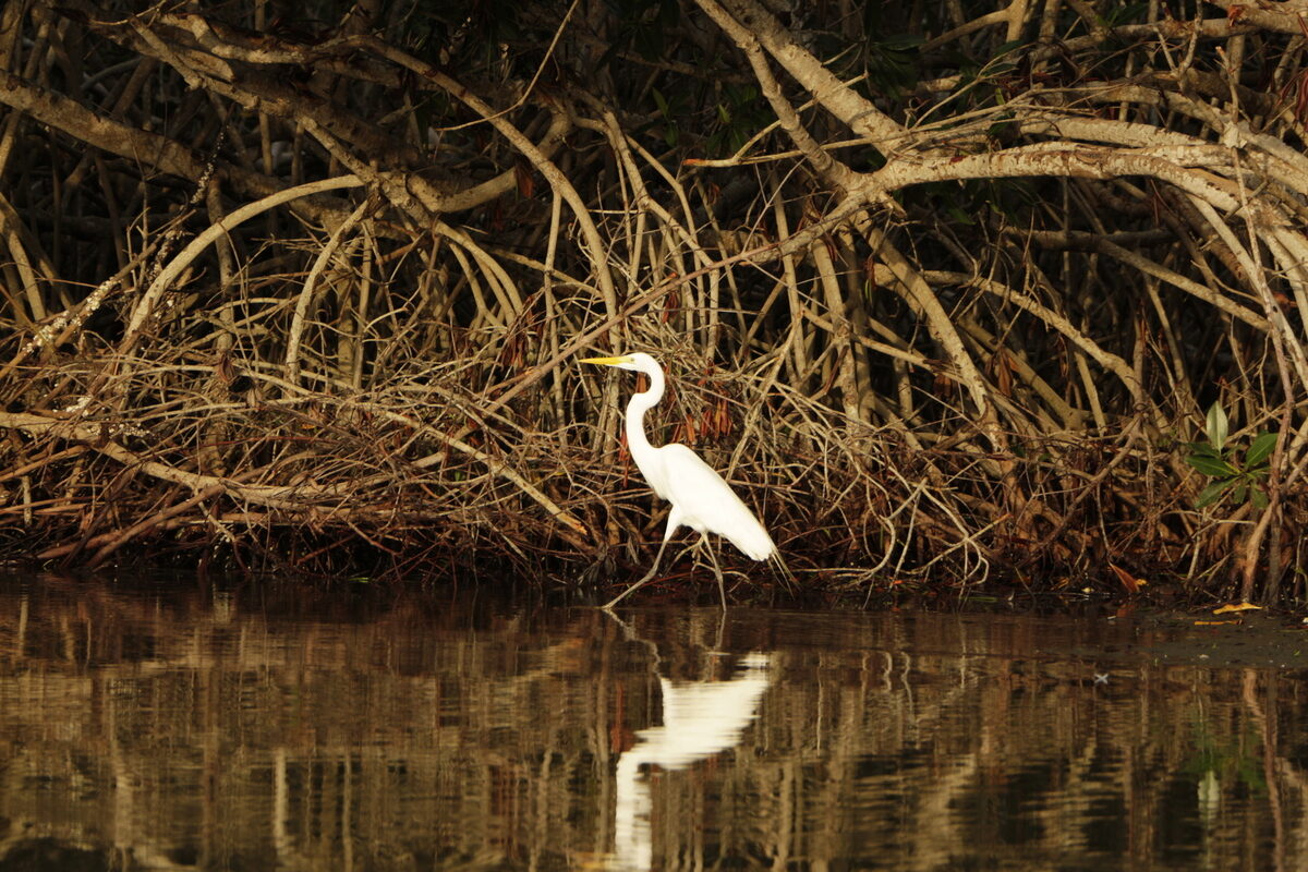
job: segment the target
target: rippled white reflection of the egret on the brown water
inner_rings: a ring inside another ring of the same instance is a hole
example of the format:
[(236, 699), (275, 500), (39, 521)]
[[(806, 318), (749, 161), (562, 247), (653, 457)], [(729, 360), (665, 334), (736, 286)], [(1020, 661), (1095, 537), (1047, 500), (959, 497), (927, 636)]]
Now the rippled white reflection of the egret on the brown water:
[(617, 800), (610, 869), (653, 868), (650, 767), (687, 769), (740, 741), (759, 714), (772, 682), (772, 658), (748, 654), (727, 681), (672, 681), (663, 689), (663, 726), (636, 733), (636, 745), (617, 757)]

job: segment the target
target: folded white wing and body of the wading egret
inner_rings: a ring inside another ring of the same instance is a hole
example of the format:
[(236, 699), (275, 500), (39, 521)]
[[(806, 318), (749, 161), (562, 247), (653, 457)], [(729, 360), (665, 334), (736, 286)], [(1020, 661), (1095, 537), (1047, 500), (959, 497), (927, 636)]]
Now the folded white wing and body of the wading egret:
[(753, 560), (766, 560), (777, 550), (749, 507), (700, 455), (679, 443), (666, 444), (658, 454), (662, 481), (655, 490), (680, 510), (681, 523), (722, 536)]

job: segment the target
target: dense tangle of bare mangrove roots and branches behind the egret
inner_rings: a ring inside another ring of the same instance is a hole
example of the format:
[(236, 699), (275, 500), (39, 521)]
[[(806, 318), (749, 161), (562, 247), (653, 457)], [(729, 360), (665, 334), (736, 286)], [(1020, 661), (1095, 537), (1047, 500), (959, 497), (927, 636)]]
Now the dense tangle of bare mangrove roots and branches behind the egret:
[(624, 580), (646, 349), (807, 586), (1294, 590), (1291, 4), (0, 14), (10, 552)]

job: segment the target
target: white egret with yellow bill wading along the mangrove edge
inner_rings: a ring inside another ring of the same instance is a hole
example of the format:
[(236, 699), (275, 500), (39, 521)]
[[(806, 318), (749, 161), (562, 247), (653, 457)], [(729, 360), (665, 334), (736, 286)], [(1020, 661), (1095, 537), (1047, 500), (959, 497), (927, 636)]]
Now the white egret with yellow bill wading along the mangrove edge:
[(663, 531), (663, 544), (659, 545), (658, 554), (654, 556), (650, 571), (645, 574), (645, 578), (615, 596), (604, 608), (613, 608), (654, 578), (659, 561), (663, 558), (663, 549), (667, 548), (667, 540), (679, 527), (689, 527), (700, 533), (697, 544), (705, 545), (705, 550), (709, 553), (713, 574), (718, 579), (718, 591), (722, 594), (722, 604), (726, 605), (727, 594), (722, 583), (722, 570), (718, 567), (718, 558), (713, 554), (713, 549), (708, 546), (709, 533), (727, 539), (752, 560), (768, 560), (776, 556), (777, 546), (773, 544), (772, 536), (749, 511), (749, 507), (740, 501), (740, 497), (723, 481), (722, 476), (704, 463), (700, 455), (676, 442), (655, 448), (645, 437), (645, 413), (658, 405), (666, 387), (663, 367), (659, 366), (658, 361), (644, 352), (636, 352), (620, 357), (587, 357), (581, 362), (616, 366), (649, 377), (649, 390), (633, 395), (627, 404), (627, 447), (654, 493), (672, 503), (672, 509), (667, 514), (667, 529)]

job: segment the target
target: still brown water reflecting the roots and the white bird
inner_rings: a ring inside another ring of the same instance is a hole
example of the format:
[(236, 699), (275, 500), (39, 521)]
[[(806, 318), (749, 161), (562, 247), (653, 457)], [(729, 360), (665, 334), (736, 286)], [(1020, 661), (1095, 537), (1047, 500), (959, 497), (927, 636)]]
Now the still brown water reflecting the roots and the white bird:
[(1281, 620), (0, 583), (0, 864), (1308, 868)]

